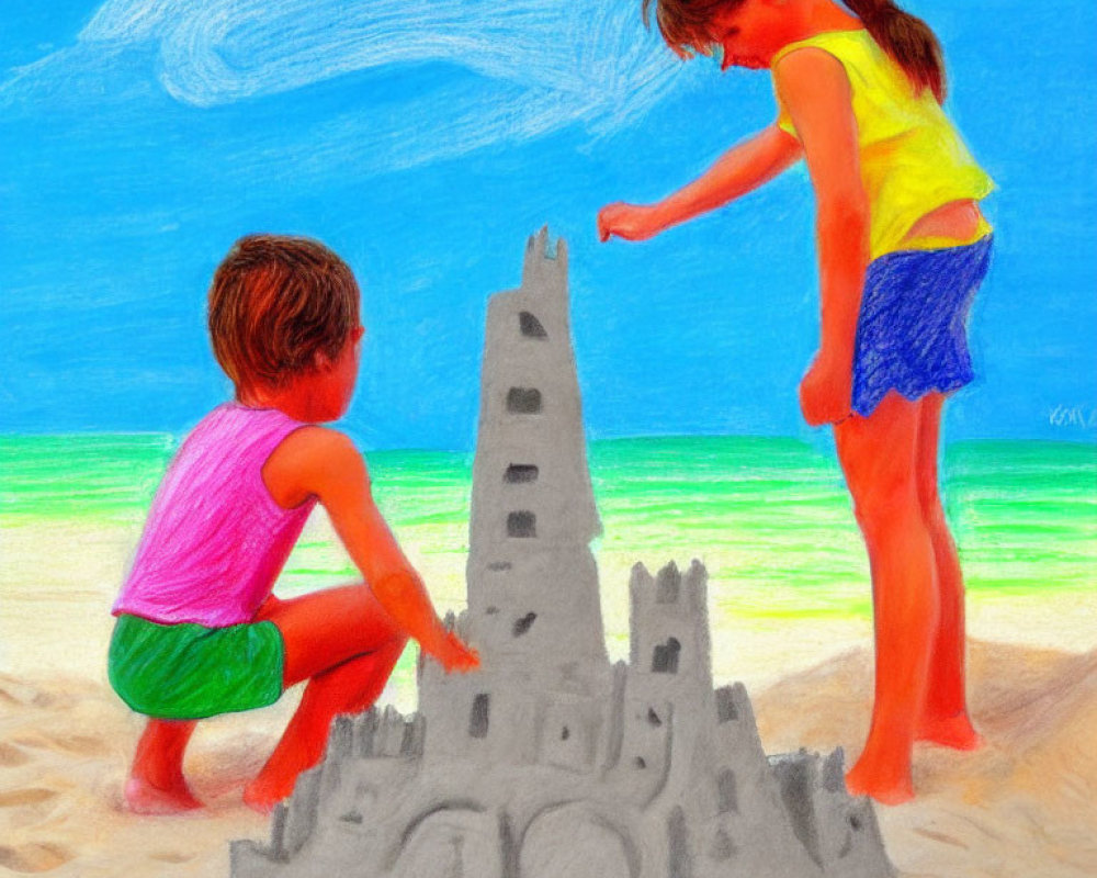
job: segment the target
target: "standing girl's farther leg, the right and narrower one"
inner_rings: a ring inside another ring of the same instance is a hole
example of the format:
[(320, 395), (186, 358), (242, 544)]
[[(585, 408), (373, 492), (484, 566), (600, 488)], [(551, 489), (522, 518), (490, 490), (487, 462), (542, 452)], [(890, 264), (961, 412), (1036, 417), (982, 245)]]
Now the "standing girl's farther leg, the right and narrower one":
[(937, 487), (937, 451), (945, 396), (921, 401), (918, 429), (918, 502), (929, 529), (937, 566), (940, 619), (929, 660), (929, 684), (918, 739), (959, 750), (981, 743), (968, 716), (964, 675), (963, 574)]

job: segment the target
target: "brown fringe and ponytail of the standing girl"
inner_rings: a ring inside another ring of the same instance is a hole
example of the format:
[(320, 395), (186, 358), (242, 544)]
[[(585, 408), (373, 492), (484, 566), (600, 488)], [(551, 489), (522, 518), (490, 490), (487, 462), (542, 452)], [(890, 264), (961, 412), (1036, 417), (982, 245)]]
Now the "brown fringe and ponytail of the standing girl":
[[(644, 24), (651, 27), (651, 8), (664, 41), (678, 55), (689, 56), (709, 42), (709, 22), (722, 9), (745, 0), (642, 0)], [(904, 12), (892, 0), (842, 0), (864, 24), (918, 90), (930, 89), (945, 102), (945, 59), (941, 44), (921, 19)]]

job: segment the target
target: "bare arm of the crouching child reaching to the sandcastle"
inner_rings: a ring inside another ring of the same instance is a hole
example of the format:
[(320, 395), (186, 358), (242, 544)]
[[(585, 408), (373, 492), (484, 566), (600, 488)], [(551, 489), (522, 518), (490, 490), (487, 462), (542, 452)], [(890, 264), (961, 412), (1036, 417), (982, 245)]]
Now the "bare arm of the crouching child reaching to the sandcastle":
[(351, 440), (326, 427), (291, 434), (263, 466), (263, 481), (281, 506), (319, 499), (339, 539), (393, 620), (446, 669), (478, 664), (438, 618), (422, 581), (400, 551), (370, 492), (365, 461)]

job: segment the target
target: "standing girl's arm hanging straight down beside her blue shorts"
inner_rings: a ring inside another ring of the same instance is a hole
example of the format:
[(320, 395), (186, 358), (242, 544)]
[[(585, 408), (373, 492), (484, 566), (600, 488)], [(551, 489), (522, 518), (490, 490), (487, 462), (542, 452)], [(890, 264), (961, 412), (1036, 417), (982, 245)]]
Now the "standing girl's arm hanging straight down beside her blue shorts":
[(852, 405), (853, 342), (869, 261), (857, 121), (849, 79), (833, 55), (796, 49), (777, 63), (773, 78), (803, 144), (816, 200), (821, 338), (800, 385), (800, 406), (808, 424), (834, 424)]

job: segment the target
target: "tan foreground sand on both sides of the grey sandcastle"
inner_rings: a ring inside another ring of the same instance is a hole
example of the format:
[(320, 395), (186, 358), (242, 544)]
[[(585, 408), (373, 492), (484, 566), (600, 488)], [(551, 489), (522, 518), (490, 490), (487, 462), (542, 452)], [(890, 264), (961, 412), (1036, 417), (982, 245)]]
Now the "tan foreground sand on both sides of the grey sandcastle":
[[(970, 668), (986, 746), (919, 747), (917, 798), (878, 807), (892, 860), (912, 878), (1097, 875), (1097, 651), (975, 641)], [(767, 751), (856, 757), (871, 676), (859, 646), (753, 693)], [(292, 708), (202, 723), (186, 770), (207, 807), (136, 817), (121, 790), (139, 718), (102, 683), (0, 674), (0, 874), (226, 876), (229, 840), (267, 837), (240, 790)]]

